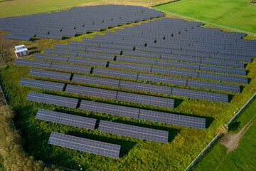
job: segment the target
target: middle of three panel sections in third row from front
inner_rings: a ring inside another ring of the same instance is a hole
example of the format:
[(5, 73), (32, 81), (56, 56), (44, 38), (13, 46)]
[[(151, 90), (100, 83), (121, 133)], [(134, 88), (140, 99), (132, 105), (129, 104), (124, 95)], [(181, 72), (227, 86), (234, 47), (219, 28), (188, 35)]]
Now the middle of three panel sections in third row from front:
[(82, 110), (89, 110), (97, 113), (107, 113), (110, 115), (119, 115), (128, 118), (139, 117), (139, 109), (129, 108), (122, 105), (111, 105), (107, 103), (82, 100), (79, 108)]

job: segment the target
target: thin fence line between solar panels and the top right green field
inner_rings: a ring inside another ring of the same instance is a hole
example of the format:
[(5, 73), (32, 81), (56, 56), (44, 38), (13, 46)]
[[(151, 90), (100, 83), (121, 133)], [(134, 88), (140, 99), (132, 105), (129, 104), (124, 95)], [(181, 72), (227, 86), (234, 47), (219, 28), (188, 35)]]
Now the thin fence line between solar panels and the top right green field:
[[(175, 1), (174, 1), (174, 2), (175, 2)], [(152, 8), (154, 8), (154, 9), (156, 9), (156, 10), (159, 10), (159, 11), (164, 11), (164, 10), (162, 10), (162, 9), (155, 8), (154, 6), (153, 6)], [(164, 11), (164, 12), (170, 13), (170, 14), (174, 14), (174, 15), (176, 15), (176, 16), (181, 16), (181, 17), (187, 18), (187, 19), (192, 19), (192, 20), (195, 20), (195, 21), (200, 21), (200, 22), (203, 22), (203, 23), (206, 23), (206, 24), (212, 24), (212, 25), (218, 26), (218, 27), (220, 27), (220, 28), (228, 28), (228, 29), (233, 30), (233, 31), (238, 31), (238, 32), (243, 32), (243, 33), (249, 33), (249, 34), (251, 34), (251, 35), (253, 35), (253, 36), (256, 36), (256, 33), (251, 33), (251, 32), (248, 32), (248, 31), (242, 31), (242, 30), (237, 29), (237, 28), (231, 28), (231, 27), (228, 27), (228, 26), (223, 26), (223, 25), (219, 25), (219, 24), (214, 24), (214, 23), (211, 23), (211, 22), (208, 22), (208, 21), (204, 21), (204, 20), (200, 20), (200, 19), (195, 19), (195, 18), (192, 18), (192, 17), (189, 17), (189, 16), (183, 16), (183, 15), (176, 14), (176, 13), (170, 12), (170, 11)]]

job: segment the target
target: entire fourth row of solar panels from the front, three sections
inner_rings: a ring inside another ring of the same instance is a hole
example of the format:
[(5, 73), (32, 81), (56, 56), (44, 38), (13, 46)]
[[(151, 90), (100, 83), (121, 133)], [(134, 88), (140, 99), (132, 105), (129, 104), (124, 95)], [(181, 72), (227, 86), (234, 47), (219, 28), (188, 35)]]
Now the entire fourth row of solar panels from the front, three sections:
[[(64, 83), (32, 80), (28, 78), (21, 78), (21, 81), (20, 83), (18, 83), (18, 85), (29, 86), (34, 88), (43, 88), (47, 90), (58, 90), (58, 91), (63, 91), (63, 88), (65, 86)], [(132, 103), (156, 105), (156, 106), (161, 106), (165, 108), (174, 108), (174, 99), (161, 98), (161, 97), (155, 97), (150, 95), (140, 95), (136, 93), (125, 93), (125, 92), (116, 91), (116, 90), (105, 90), (101, 88), (91, 88), (91, 87), (76, 86), (76, 85), (68, 84), (65, 87), (65, 92), (76, 93), (80, 95), (89, 95), (96, 98), (107, 98), (107, 99), (121, 100), (121, 101), (127, 101)], [(221, 95), (220, 95), (220, 98), (222, 98), (220, 100), (228, 100), (228, 99), (225, 99), (225, 97), (221, 97)], [(228, 101), (225, 101), (225, 102), (228, 102)]]

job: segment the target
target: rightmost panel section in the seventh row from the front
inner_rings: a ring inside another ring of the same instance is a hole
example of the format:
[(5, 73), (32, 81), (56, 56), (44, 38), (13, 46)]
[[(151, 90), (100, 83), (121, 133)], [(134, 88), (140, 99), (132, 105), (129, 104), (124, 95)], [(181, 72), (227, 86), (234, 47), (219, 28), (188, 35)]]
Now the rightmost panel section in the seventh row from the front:
[(233, 83), (248, 83), (247, 77), (242, 76), (230, 76), (230, 75), (224, 75), (219, 73), (203, 73), (198, 72), (198, 78), (204, 78), (209, 80), (216, 80), (216, 81), (228, 81)]

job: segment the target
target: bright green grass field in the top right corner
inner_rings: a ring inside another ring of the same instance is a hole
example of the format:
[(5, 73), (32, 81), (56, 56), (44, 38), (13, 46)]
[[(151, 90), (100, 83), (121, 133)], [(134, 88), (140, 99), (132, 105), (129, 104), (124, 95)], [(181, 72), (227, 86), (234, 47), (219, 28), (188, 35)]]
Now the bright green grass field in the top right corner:
[(247, 0), (181, 0), (155, 9), (256, 34), (256, 6)]

